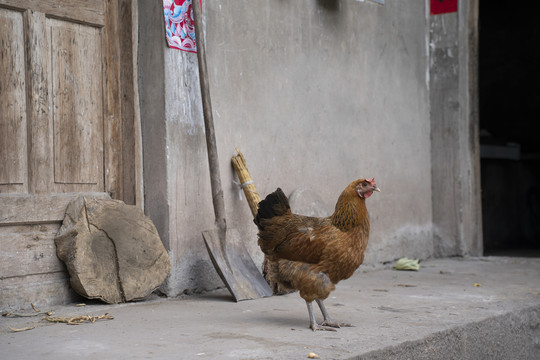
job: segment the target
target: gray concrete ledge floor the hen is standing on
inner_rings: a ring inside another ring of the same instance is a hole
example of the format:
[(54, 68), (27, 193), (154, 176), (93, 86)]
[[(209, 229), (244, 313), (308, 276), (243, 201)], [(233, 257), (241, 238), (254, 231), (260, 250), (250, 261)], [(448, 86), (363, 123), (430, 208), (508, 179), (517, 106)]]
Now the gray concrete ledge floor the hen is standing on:
[[(326, 304), (355, 327), (313, 333), (298, 294), (234, 303), (218, 291), (53, 309), (115, 317), (78, 326), (2, 317), (0, 346), (7, 359), (304, 359), (310, 352), (321, 359), (540, 359), (540, 259), (436, 259), (418, 272), (361, 268)], [(10, 326), (36, 328), (12, 333)]]

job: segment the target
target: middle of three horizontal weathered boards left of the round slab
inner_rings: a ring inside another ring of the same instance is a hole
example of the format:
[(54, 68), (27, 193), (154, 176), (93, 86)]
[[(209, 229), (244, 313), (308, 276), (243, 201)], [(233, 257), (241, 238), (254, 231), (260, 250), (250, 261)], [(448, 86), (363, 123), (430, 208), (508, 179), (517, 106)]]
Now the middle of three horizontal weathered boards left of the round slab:
[(0, 276), (3, 279), (64, 271), (54, 237), (60, 223), (0, 227)]

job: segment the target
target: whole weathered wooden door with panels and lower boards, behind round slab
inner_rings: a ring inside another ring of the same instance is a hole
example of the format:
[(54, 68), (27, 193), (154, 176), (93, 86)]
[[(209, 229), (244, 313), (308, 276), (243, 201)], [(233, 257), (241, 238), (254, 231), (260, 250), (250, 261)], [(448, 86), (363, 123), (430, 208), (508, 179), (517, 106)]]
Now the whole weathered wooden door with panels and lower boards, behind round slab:
[(114, 0), (0, 0), (0, 308), (69, 297), (67, 203), (124, 198), (118, 27)]

